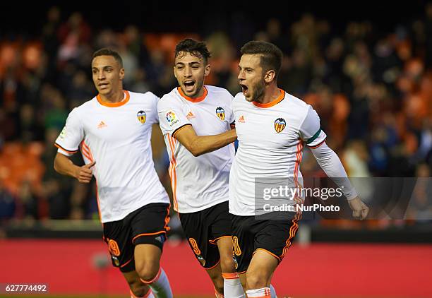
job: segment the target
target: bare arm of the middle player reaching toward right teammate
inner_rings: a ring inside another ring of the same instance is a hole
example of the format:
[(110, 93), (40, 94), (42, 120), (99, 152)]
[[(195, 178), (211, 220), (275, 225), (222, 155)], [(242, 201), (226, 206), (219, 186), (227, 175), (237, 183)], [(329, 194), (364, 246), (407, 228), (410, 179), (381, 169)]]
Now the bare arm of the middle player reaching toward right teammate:
[(191, 124), (181, 126), (172, 133), (181, 145), (184, 145), (193, 156), (203, 155), (220, 149), (236, 141), (236, 130), (231, 129), (213, 136), (197, 136)]

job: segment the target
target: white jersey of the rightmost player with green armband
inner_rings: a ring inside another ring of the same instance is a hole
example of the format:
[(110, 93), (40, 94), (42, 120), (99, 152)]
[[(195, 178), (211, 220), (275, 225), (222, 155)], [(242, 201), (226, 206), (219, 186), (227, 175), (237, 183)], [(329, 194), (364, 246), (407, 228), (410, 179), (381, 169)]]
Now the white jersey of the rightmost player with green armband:
[(256, 215), (256, 179), (289, 178), (301, 185), (304, 145), (316, 148), (325, 141), (311, 105), (280, 93), (267, 104), (248, 102), (242, 93), (234, 97), (239, 148), (229, 176), (229, 213)]

